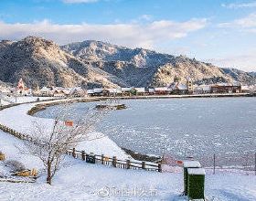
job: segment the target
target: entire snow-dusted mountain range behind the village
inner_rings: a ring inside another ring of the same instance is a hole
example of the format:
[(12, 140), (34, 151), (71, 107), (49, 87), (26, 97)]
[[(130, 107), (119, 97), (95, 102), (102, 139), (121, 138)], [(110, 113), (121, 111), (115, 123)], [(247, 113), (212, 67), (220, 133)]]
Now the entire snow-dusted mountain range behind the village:
[(43, 86), (166, 86), (178, 76), (196, 83), (240, 81), (255, 84), (256, 74), (220, 69), (195, 58), (157, 53), (144, 48), (123, 48), (99, 41), (59, 47), (39, 37), (0, 42), (0, 80), (28, 87)]

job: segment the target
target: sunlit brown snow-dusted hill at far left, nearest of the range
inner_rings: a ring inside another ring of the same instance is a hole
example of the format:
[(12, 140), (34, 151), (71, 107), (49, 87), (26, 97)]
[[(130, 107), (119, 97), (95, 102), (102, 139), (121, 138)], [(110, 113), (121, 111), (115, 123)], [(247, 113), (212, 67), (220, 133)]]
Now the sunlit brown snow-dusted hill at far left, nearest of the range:
[(117, 86), (122, 81), (94, 69), (61, 50), (57, 44), (39, 37), (0, 43), (0, 80), (16, 83), (23, 78), (28, 87), (35, 86)]

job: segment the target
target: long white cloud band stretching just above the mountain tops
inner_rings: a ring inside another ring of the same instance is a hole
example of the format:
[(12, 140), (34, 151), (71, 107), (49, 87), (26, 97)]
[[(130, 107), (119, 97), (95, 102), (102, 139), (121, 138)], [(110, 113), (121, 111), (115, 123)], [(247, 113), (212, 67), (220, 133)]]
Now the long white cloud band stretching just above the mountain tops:
[(30, 24), (0, 22), (0, 38), (20, 39), (28, 35), (52, 39), (66, 44), (86, 39), (102, 40), (130, 48), (154, 48), (159, 42), (187, 37), (190, 32), (207, 26), (206, 19), (191, 19), (186, 22), (154, 21), (140, 24), (79, 24), (59, 25), (48, 20)]

